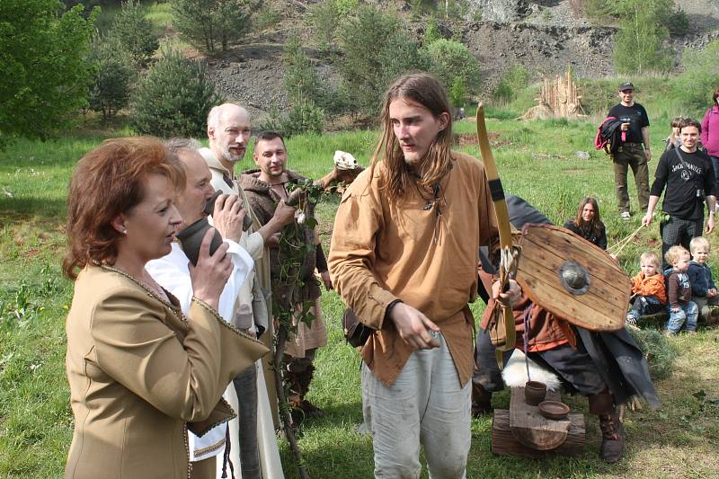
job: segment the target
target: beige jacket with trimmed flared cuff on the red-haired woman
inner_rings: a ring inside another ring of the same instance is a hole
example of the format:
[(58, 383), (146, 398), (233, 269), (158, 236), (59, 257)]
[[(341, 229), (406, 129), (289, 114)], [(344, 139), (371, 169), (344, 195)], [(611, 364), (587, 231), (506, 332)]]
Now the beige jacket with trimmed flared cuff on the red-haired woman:
[(187, 428), (201, 435), (234, 417), (222, 393), (267, 352), (199, 299), (187, 318), (98, 266), (75, 281), (66, 329), (73, 479), (189, 477)]

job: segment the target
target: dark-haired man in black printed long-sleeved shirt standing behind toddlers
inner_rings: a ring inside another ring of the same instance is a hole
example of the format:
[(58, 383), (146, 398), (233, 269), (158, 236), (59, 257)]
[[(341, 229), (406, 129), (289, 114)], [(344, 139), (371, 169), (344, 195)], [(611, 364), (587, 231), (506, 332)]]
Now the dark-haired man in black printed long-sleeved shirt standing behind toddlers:
[(667, 264), (664, 255), (671, 246), (681, 244), (687, 250), (694, 236), (702, 235), (704, 226), (704, 202), (709, 209), (706, 233), (714, 231), (716, 184), (714, 167), (705, 152), (697, 148), (701, 125), (697, 120), (687, 119), (681, 123), (679, 135), (681, 146), (661, 155), (654, 173), (649, 208), (642, 225), (652, 224), (652, 213), (666, 186), (661, 209), (669, 216), (660, 223), (662, 270)]

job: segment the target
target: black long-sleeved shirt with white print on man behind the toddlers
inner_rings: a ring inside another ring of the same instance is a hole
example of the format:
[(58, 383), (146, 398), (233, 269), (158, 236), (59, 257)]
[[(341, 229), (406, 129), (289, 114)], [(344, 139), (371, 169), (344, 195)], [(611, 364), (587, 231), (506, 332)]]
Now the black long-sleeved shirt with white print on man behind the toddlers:
[(650, 194), (661, 196), (664, 186), (667, 191), (664, 192), (661, 209), (665, 213), (682, 219), (704, 218), (706, 196), (716, 196), (711, 159), (698, 149), (694, 153), (687, 153), (681, 148), (664, 152), (657, 164)]

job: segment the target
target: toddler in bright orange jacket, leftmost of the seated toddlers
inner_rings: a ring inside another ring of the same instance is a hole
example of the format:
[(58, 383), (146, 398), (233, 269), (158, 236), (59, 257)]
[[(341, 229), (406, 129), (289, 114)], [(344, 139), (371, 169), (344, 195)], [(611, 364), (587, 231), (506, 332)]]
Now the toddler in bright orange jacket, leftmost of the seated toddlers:
[(659, 272), (657, 253), (643, 253), (639, 258), (639, 271), (632, 278), (634, 305), (626, 314), (626, 324), (636, 324), (643, 315), (654, 315), (664, 310), (667, 292), (664, 275)]

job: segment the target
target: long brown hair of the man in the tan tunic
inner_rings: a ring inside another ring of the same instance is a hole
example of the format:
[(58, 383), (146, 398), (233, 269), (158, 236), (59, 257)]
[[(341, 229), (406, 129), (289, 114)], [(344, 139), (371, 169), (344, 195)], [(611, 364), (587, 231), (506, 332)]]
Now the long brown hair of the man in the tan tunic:
[[(431, 111), (435, 118), (439, 118), (442, 113), (448, 113), (447, 128), (439, 131), (427, 152), (425, 161), (422, 162), (422, 170), (415, 172), (419, 174), (419, 180), (413, 178), (409, 167), (404, 162), (402, 147), (395, 137), (392, 120), (389, 118), (390, 103), (399, 99), (411, 100), (422, 105)], [(435, 75), (423, 72), (399, 77), (385, 93), (381, 118), (382, 138), (372, 155), (371, 173), (374, 174), (377, 163), (384, 162), (386, 168), (380, 182), (382, 191), (385, 191), (390, 199), (397, 200), (415, 182), (425, 187), (439, 182), (442, 176), (448, 172), (452, 159), (449, 152), (449, 148), (452, 146), (452, 115), (449, 110), (447, 92), (439, 83), (439, 79)]]

